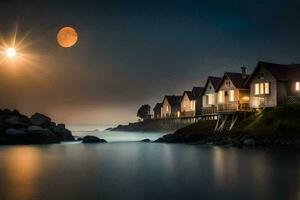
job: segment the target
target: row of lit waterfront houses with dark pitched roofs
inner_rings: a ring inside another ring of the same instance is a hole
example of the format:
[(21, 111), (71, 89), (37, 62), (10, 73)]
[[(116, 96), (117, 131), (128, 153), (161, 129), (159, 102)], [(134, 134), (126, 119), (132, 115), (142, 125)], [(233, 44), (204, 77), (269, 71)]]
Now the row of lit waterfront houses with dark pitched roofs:
[(300, 64), (258, 62), (252, 74), (225, 72), (209, 76), (203, 87), (166, 95), (153, 109), (154, 118), (193, 117), (228, 111), (276, 107), (300, 99)]

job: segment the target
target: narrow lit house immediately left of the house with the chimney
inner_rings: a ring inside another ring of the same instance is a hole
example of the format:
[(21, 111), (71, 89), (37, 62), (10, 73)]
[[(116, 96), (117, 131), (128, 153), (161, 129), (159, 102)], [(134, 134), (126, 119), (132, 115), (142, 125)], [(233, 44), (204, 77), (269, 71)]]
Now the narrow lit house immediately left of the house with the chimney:
[(216, 88), (220, 84), (221, 77), (209, 76), (202, 93), (202, 114), (213, 114), (217, 112)]

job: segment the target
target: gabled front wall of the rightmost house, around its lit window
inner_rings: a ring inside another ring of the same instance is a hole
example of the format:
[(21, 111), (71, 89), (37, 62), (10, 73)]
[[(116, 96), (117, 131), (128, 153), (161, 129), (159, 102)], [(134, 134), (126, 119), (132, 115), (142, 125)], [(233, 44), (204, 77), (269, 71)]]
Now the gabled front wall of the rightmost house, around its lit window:
[[(263, 74), (263, 77), (260, 76)], [(270, 94), (255, 95), (255, 83), (269, 82)], [(278, 88), (279, 87), (279, 88)], [(280, 90), (280, 94), (277, 91)], [(286, 95), (284, 93), (286, 89), (283, 85), (278, 86), (276, 79), (268, 72), (264, 67), (261, 67), (253, 76), (250, 83), (250, 107), (251, 108), (263, 108), (263, 107), (275, 107), (277, 106), (278, 95)]]

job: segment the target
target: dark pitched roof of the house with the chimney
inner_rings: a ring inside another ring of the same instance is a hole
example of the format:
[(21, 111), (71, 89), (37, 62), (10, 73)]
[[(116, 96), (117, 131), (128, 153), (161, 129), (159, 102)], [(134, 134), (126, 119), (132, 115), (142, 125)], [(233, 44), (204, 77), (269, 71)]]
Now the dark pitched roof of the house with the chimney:
[(216, 88), (216, 91), (218, 91), (225, 80), (225, 78), (228, 77), (229, 80), (231, 80), (232, 84), (238, 88), (238, 89), (249, 89), (248, 79), (249, 75), (247, 74), (245, 78), (243, 78), (242, 73), (236, 73), (236, 72), (225, 72), (222, 81), (219, 83), (219, 85)]

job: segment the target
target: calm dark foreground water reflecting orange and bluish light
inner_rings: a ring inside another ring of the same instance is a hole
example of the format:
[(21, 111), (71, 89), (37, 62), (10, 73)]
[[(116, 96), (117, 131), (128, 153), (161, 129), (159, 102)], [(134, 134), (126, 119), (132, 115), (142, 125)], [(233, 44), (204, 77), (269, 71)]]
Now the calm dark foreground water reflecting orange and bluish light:
[(300, 199), (300, 154), (139, 142), (2, 146), (0, 199)]

